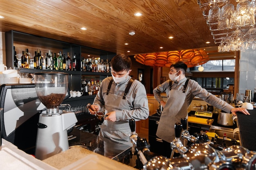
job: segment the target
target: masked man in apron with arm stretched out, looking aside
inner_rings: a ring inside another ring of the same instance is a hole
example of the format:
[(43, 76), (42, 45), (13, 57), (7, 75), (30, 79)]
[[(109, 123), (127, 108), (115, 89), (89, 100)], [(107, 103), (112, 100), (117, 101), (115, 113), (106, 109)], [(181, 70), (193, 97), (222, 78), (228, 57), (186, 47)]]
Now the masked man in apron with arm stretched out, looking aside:
[[(170, 80), (158, 85), (153, 90), (156, 100), (164, 107), (156, 135), (164, 140), (166, 150), (169, 148), (169, 151), (164, 155), (166, 157), (171, 155), (170, 142), (175, 139), (174, 125), (176, 122), (180, 122), (181, 118), (187, 118), (188, 107), (195, 96), (227, 113), (236, 115), (236, 112), (240, 111), (249, 115), (246, 109), (232, 107), (224, 100), (207, 92), (196, 81), (187, 79), (185, 77), (186, 69), (187, 65), (182, 61), (173, 63), (170, 66)], [(161, 97), (163, 92), (167, 95), (166, 102)]]

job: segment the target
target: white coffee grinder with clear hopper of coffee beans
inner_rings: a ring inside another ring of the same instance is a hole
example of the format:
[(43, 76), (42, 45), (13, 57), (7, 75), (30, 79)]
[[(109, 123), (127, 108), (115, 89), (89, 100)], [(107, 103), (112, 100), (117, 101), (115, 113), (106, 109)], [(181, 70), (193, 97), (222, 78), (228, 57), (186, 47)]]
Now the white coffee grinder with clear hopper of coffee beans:
[(38, 72), (34, 74), (36, 94), (46, 110), (38, 121), (36, 158), (43, 160), (69, 148), (67, 129), (77, 122), (74, 112), (64, 113), (58, 106), (63, 102), (68, 87), (68, 74)]

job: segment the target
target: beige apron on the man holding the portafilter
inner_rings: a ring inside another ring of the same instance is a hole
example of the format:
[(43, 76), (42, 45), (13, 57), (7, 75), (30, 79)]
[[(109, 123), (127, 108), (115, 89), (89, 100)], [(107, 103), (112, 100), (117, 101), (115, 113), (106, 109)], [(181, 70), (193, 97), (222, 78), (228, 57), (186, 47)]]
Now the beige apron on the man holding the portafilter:
[[(116, 110), (131, 110), (127, 99), (124, 96), (117, 96), (115, 94), (108, 94), (104, 98), (105, 101), (105, 114)], [(112, 122), (104, 120), (100, 125), (100, 136), (107, 137), (113, 141), (121, 142), (127, 145), (132, 145), (130, 142), (130, 126), (129, 120), (120, 120)]]

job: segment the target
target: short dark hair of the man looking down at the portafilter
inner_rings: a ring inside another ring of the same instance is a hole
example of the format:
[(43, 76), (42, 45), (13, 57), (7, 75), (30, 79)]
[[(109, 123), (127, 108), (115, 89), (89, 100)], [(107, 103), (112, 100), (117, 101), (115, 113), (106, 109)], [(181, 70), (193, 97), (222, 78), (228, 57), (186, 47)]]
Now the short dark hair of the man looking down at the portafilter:
[(117, 54), (111, 59), (110, 66), (111, 69), (116, 72), (122, 72), (124, 70), (128, 72), (132, 66), (132, 61), (130, 57), (125, 54)]

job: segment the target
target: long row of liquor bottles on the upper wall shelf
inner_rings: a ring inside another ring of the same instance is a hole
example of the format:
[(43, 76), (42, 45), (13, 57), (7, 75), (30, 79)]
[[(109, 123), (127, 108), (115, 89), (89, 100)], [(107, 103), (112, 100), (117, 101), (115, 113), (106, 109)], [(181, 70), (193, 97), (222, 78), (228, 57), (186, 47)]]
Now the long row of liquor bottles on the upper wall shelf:
[[(28, 48), (25, 51), (22, 51), (22, 56), (17, 57), (15, 46), (13, 46), (14, 50), (14, 67), (24, 68), (24, 69), (38, 69), (38, 70), (58, 70), (58, 71), (81, 71), (81, 74), (85, 74), (85, 72), (99, 73), (110, 73), (110, 62), (108, 59), (94, 59), (94, 57), (87, 58), (82, 57), (80, 65), (78, 64), (78, 60), (76, 59), (76, 52), (74, 52), (73, 57), (70, 56), (70, 53), (67, 52), (66, 55), (59, 51), (57, 54), (54, 52), (45, 53), (45, 56), (41, 54), (41, 50), (37, 49), (34, 52), (34, 57), (31, 57), (29, 54)], [(80, 66), (80, 68), (78, 67)]]

